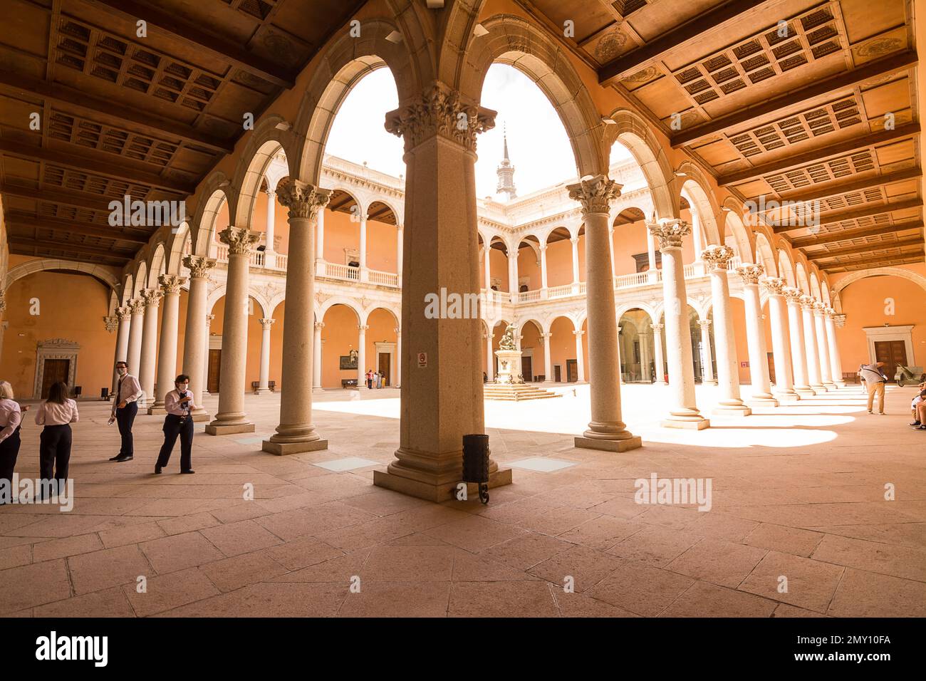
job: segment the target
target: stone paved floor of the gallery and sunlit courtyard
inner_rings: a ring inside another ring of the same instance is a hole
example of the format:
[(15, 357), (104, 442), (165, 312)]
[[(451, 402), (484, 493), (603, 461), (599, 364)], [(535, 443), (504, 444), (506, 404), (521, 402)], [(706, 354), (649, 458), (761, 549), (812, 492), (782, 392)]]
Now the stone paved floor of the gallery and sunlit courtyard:
[[(371, 485), (398, 445), (391, 390), (319, 397), (331, 448), (286, 458), (258, 451), (279, 397), (247, 397), (257, 433), (197, 433), (195, 475), (177, 474), (178, 452), (151, 474), (156, 417), (136, 421), (135, 460), (106, 461), (118, 434), (108, 405), (87, 402), (73, 511), (0, 507), (0, 614), (924, 616), (926, 433), (907, 427), (910, 393), (889, 390), (883, 417), (851, 388), (693, 433), (655, 426), (665, 404), (656, 387), (625, 386), (625, 420), (645, 446), (624, 454), (544, 432), (587, 421), (587, 386), (543, 408), (487, 403), (500, 464), (574, 464), (516, 468), (488, 506)], [(37, 474), (38, 430), (27, 420), (20, 475)], [(371, 462), (317, 465), (348, 457)], [(651, 473), (711, 478), (711, 511), (635, 503), (634, 480)], [(888, 483), (896, 500), (884, 499)]]

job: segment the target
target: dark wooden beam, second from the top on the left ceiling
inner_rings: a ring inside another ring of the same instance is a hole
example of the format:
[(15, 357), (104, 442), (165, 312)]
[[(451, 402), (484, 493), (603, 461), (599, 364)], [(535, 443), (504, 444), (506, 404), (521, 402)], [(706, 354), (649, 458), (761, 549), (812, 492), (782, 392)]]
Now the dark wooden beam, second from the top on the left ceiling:
[(106, 125), (125, 128), (126, 121), (129, 121), (143, 127), (148, 134), (155, 137), (167, 134), (183, 142), (205, 146), (213, 152), (231, 154), (234, 151), (233, 141), (213, 137), (189, 125), (145, 113), (136, 107), (126, 107), (111, 100), (99, 99), (60, 83), (46, 82), (24, 74), (0, 70), (0, 87), (13, 90), (20, 95), (41, 97), (58, 106), (67, 107), (68, 113), (97, 123), (102, 122)]

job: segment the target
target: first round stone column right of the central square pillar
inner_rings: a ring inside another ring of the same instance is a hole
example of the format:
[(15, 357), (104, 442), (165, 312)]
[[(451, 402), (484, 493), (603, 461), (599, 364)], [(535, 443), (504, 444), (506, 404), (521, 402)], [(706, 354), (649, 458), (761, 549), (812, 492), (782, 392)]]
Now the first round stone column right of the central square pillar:
[[(591, 375), (592, 420), (575, 446), (627, 451), (641, 446), (640, 437), (627, 430), (620, 413), (620, 357), (618, 321), (614, 314), (614, 273), (608, 215), (620, 185), (597, 175), (569, 184), (569, 198), (582, 204), (585, 221), (585, 307), (588, 320), (588, 362)], [(582, 380), (582, 331), (576, 332), (579, 380)], [(545, 357), (544, 357), (545, 359)]]

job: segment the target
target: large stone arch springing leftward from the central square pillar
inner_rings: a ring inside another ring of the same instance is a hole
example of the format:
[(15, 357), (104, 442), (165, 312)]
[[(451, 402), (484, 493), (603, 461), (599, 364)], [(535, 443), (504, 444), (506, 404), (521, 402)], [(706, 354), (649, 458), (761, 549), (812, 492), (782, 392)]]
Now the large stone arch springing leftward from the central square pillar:
[[(352, 37), (345, 31), (316, 57), (318, 67), (308, 82), (295, 119), (293, 133), (298, 143), (294, 146), (292, 157), (287, 155), (290, 167), (295, 170), (294, 177), (319, 184), (325, 143), (334, 117), (344, 98), (371, 71), (383, 67), (392, 71), (399, 102), (419, 95), (422, 90), (419, 83), (431, 82), (430, 78), (422, 80), (416, 68), (419, 61), (413, 60), (408, 53), (413, 44), (411, 41), (417, 43), (423, 40), (412, 5), (407, 3), (403, 9), (395, 10), (395, 21), (406, 40), (397, 44), (386, 40), (386, 36), (396, 30), (396, 23), (388, 19), (367, 19), (360, 24), (361, 38)], [(423, 53), (430, 52), (424, 43), (421, 50)], [(419, 60), (424, 58), (419, 57)]]

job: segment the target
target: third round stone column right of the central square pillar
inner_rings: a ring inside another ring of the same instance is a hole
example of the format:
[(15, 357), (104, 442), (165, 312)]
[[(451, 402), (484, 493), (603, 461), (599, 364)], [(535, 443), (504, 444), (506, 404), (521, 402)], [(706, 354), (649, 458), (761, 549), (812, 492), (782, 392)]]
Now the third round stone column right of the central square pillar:
[(714, 301), (714, 346), (717, 352), (717, 384), (720, 399), (714, 413), (719, 416), (749, 416), (752, 410), (740, 396), (740, 373), (736, 359), (736, 335), (730, 310), (730, 246), (708, 246), (701, 259), (710, 274), (710, 293)]

